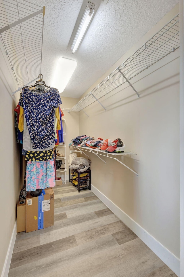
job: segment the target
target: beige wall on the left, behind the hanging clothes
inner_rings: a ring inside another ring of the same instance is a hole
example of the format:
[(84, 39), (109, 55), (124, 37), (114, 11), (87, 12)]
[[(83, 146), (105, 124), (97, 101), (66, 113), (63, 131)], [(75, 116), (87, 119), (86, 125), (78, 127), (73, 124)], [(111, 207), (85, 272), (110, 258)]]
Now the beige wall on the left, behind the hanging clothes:
[(9, 249), (9, 244), (14, 230), (14, 234), (16, 234), (16, 229), (14, 229), (16, 227), (16, 202), (22, 185), (19, 177), (19, 149), (14, 128), (14, 108), (17, 105), (19, 95), (12, 97), (12, 92), (16, 89), (17, 84), (0, 41), (0, 274), (2, 273), (2, 276), (7, 276), (7, 268), (4, 265), (7, 263), (8, 267), (10, 260), (6, 259), (8, 258), (7, 254), (9, 250), (10, 252), (13, 250)]

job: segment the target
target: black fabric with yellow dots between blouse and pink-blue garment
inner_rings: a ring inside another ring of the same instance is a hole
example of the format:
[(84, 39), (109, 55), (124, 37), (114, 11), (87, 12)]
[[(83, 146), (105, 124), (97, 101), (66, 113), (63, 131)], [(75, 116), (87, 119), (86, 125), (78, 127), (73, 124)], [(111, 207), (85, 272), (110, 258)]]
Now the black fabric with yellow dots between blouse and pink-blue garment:
[(40, 162), (40, 161), (49, 161), (53, 160), (54, 158), (54, 150), (43, 150), (43, 151), (27, 151), (26, 154), (26, 161), (35, 161), (35, 162)]

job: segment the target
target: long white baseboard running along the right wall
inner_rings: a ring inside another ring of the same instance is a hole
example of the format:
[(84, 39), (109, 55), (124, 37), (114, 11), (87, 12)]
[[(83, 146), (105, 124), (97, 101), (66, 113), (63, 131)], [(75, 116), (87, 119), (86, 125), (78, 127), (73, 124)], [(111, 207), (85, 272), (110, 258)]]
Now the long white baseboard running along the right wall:
[(180, 260), (173, 255), (158, 240), (150, 235), (145, 229), (137, 224), (123, 210), (118, 208), (109, 198), (101, 193), (96, 187), (91, 185), (91, 191), (119, 217), (171, 270), (180, 276)]

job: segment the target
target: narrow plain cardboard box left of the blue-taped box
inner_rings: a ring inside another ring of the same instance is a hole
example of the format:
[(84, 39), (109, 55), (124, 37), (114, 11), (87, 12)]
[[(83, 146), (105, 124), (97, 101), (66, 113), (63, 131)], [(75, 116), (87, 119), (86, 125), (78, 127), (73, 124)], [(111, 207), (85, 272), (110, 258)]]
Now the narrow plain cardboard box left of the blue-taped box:
[(26, 200), (17, 203), (17, 233), (26, 231)]

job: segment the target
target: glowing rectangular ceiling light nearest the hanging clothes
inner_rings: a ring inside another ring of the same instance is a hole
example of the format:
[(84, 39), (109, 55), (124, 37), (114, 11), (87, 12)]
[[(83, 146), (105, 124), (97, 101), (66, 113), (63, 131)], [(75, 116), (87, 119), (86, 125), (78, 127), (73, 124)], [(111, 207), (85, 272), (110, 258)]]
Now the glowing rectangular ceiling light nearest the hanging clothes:
[(77, 62), (75, 60), (59, 58), (53, 75), (52, 87), (57, 88), (59, 92), (63, 92), (76, 66)]

